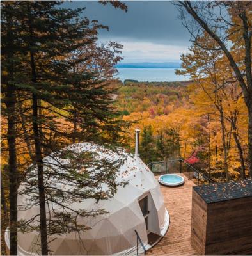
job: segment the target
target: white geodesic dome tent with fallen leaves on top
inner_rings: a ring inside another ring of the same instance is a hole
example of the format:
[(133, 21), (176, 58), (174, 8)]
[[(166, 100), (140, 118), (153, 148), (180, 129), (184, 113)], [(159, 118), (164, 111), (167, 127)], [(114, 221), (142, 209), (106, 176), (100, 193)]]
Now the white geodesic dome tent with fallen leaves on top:
[[(113, 198), (100, 200), (98, 204), (93, 199), (85, 199), (70, 205), (72, 208), (82, 208), (87, 211), (105, 209), (109, 213), (79, 220), (91, 227), (89, 230), (50, 236), (49, 250), (52, 255), (127, 255), (136, 251), (135, 230), (147, 250), (155, 244), (148, 244), (150, 232), (159, 235), (160, 238), (164, 236), (169, 227), (169, 214), (164, 206), (159, 183), (139, 157), (127, 154), (123, 150), (115, 153), (91, 143), (74, 144), (69, 148), (78, 152), (95, 152), (100, 158), (125, 157), (116, 180), (123, 180), (128, 184), (119, 186)], [(47, 157), (47, 162), (50, 161), (54, 160)], [(27, 199), (30, 199), (29, 195), (19, 195), (18, 205), (26, 204)], [(50, 211), (48, 206), (47, 214)], [(39, 214), (38, 205), (19, 211), (18, 218), (30, 220), (36, 214)], [(38, 220), (35, 218), (34, 221)], [(8, 244), (8, 232), (5, 237)], [(18, 250), (19, 255), (40, 254), (39, 232), (19, 232)]]

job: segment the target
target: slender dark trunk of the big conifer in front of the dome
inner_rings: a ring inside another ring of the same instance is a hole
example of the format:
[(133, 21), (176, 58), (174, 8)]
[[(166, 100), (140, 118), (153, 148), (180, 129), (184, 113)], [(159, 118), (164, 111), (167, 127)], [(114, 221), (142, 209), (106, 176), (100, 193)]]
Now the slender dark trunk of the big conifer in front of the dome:
[[(33, 47), (33, 26), (31, 19), (31, 10), (28, 6), (29, 13), (29, 36), (30, 36), (30, 47)], [(31, 61), (31, 81), (35, 86), (36, 81), (36, 68), (35, 68), (35, 57), (33, 51), (30, 49), (30, 61)], [(40, 204), (40, 241), (41, 241), (41, 254), (48, 255), (47, 247), (47, 216), (45, 209), (45, 187), (43, 182), (43, 159), (42, 159), (42, 145), (40, 141), (40, 130), (38, 124), (38, 97), (33, 93), (33, 136), (35, 143), (35, 162), (38, 170), (38, 198)]]

